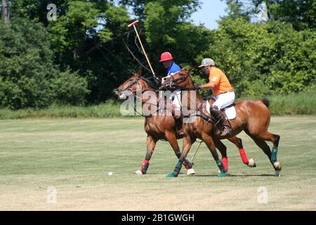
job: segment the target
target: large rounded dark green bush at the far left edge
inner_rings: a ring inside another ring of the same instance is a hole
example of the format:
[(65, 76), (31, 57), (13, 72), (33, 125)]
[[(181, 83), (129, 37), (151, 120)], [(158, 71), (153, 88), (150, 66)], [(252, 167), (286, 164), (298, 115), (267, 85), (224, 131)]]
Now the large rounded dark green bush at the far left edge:
[[(73, 96), (73, 103), (82, 102), (88, 91), (84, 81), (77, 84), (55, 67), (48, 33), (41, 23), (16, 18), (11, 25), (0, 23), (0, 32), (0, 106), (43, 108), (53, 101), (62, 102), (60, 92)], [(75, 78), (69, 71), (66, 74)], [(77, 85), (77, 93), (52, 85), (58, 79), (63, 87)]]

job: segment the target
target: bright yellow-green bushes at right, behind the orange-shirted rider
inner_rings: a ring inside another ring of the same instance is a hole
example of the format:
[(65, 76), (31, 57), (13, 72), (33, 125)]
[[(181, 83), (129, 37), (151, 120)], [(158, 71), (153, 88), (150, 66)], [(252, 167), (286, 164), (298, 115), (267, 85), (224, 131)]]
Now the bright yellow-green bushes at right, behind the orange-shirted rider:
[(224, 18), (209, 49), (238, 96), (289, 94), (315, 84), (315, 32), (298, 32), (284, 23), (249, 23)]

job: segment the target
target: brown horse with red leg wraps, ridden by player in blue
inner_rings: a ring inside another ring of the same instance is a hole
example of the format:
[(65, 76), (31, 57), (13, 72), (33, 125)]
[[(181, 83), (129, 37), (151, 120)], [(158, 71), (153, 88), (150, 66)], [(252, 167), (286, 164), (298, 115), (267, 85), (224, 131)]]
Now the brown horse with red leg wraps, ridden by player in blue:
[[(142, 94), (140, 96), (142, 106), (148, 101), (148, 96), (144, 96), (146, 91), (155, 91), (155, 95), (158, 97), (158, 92), (156, 91), (157, 89), (154, 89), (154, 84), (152, 84), (150, 79), (141, 76), (141, 72), (137, 72), (129, 79), (126, 79), (126, 81), (115, 90), (115, 94), (120, 99), (126, 99), (128, 98), (129, 94), (134, 94), (135, 96), (137, 88), (140, 88), (142, 90)], [(140, 114), (140, 112), (137, 113)], [(169, 141), (177, 158), (180, 158), (181, 153), (177, 139), (181, 139), (183, 136), (178, 136), (176, 132), (176, 120), (171, 114), (160, 114), (157, 110), (154, 111), (151, 115), (145, 115), (145, 132), (147, 133), (147, 152), (145, 155), (145, 160), (143, 161), (143, 165), (135, 172), (136, 174), (146, 174), (147, 168), (150, 163), (150, 158), (152, 157), (152, 153), (154, 152), (156, 143), (159, 140)], [(238, 139), (237, 137), (233, 136), (229, 139), (229, 141), (234, 143), (237, 148), (243, 148), (242, 139)], [(225, 160), (225, 171), (227, 171), (228, 159), (226, 146), (220, 140), (215, 140), (215, 145), (216, 148), (220, 150), (223, 160)], [(183, 158), (181, 161), (187, 169), (187, 174), (195, 174), (194, 169), (192, 169), (192, 163), (190, 162), (190, 160)], [(249, 162), (246, 162), (245, 164), (249, 167), (256, 167), (256, 164), (252, 159), (250, 159)]]

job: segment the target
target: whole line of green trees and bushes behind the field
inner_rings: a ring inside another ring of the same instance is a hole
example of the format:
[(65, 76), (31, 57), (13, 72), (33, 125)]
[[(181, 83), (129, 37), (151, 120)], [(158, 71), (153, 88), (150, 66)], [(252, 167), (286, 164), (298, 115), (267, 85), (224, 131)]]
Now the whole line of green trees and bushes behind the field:
[[(127, 27), (136, 19), (159, 77), (165, 75), (159, 56), (170, 51), (182, 68), (213, 58), (237, 96), (315, 88), (315, 1), (225, 2), (227, 15), (209, 30), (190, 19), (203, 7), (199, 0), (2, 0), (0, 105), (98, 104), (138, 69), (150, 76), (136, 34)], [(56, 6), (55, 20), (49, 4)], [(197, 70), (192, 77), (206, 82)]]

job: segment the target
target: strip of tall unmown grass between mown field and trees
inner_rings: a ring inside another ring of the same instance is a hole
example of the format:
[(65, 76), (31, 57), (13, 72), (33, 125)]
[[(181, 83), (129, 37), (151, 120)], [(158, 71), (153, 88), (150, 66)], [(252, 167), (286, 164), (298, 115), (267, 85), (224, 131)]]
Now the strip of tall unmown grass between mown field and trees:
[[(201, 91), (199, 91), (201, 94)], [(271, 115), (316, 115), (315, 87), (299, 94), (272, 95), (269, 110)], [(1, 94), (1, 92), (0, 92)], [(202, 95), (204, 95), (202, 93)], [(207, 96), (204, 95), (204, 96)], [(244, 96), (242, 99), (261, 99), (263, 96)], [(240, 99), (240, 98), (239, 98)], [(239, 100), (238, 99), (238, 100)], [(120, 102), (107, 101), (99, 105), (73, 106), (53, 104), (48, 108), (21, 110), (0, 109), (0, 120), (24, 118), (109, 118), (122, 117)], [(129, 116), (133, 117), (133, 116)]]

